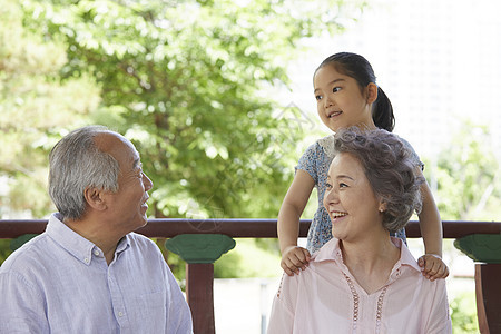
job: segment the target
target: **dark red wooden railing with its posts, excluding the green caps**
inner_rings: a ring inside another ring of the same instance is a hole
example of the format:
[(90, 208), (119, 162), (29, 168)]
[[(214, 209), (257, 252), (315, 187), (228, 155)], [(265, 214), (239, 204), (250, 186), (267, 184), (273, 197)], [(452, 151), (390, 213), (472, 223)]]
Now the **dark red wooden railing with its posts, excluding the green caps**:
[[(301, 220), (299, 236), (306, 237), (311, 220)], [(17, 238), (45, 230), (43, 219), (0, 220), (0, 238)], [(405, 228), (409, 238), (421, 237), (418, 222)], [(235, 238), (276, 238), (276, 219), (149, 219), (138, 233), (153, 238), (173, 238), (186, 234), (222, 234)], [(501, 222), (443, 222), (444, 238), (469, 235), (501, 235)], [(195, 334), (214, 333), (213, 265), (187, 263), (187, 299), (191, 307)], [(207, 282), (210, 284), (207, 284)], [(475, 284), (481, 333), (501, 333), (501, 264), (477, 264)], [(203, 286), (206, 286), (204, 288)], [(200, 288), (202, 287), (202, 288)], [(489, 301), (487, 297), (489, 296)], [(196, 305), (195, 305), (196, 304)]]

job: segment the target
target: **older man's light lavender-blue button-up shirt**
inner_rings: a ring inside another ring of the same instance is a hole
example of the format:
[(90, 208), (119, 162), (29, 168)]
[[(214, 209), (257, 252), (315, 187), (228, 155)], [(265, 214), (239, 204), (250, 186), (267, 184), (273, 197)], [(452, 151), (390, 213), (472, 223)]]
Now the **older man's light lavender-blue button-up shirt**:
[(0, 267), (0, 333), (193, 333), (158, 247), (130, 233), (102, 250), (55, 214)]

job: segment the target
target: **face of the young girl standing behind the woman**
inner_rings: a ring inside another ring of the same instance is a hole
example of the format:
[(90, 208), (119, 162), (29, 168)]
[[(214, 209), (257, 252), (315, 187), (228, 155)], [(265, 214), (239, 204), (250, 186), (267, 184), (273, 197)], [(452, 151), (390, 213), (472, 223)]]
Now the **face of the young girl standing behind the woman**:
[(377, 98), (375, 84), (369, 84), (362, 92), (355, 79), (326, 65), (316, 71), (313, 88), (318, 116), (331, 130), (351, 126), (375, 128), (371, 112)]

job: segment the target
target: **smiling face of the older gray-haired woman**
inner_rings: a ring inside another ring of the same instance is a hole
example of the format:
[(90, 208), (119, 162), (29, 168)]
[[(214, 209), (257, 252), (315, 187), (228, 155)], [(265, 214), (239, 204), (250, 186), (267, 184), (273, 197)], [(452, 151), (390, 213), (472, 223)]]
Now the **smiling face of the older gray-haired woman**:
[(380, 208), (362, 164), (353, 155), (336, 155), (327, 176), (324, 206), (335, 238), (354, 242), (382, 228)]

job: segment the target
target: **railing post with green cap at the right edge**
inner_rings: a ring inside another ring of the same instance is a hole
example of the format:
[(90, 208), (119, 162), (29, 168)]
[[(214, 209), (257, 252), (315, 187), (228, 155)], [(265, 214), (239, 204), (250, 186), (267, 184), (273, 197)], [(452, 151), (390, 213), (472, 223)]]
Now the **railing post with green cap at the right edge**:
[(501, 333), (501, 235), (473, 234), (454, 246), (475, 263), (477, 316), (481, 334)]

